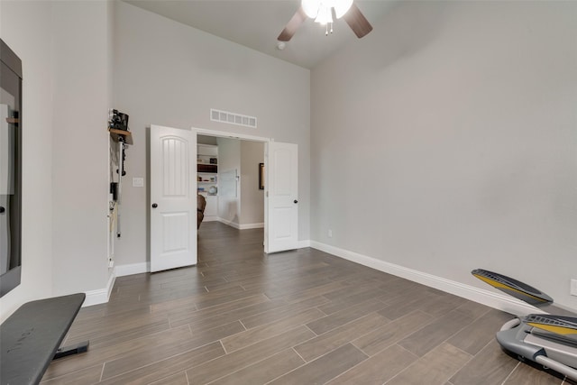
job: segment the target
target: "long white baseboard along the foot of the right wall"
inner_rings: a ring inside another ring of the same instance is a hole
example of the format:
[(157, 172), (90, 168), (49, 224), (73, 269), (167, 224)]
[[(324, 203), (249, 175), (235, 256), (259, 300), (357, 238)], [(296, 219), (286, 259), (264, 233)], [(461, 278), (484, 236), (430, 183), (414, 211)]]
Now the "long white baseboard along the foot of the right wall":
[(310, 247), (322, 252), (328, 252), (329, 254), (341, 257), (345, 260), (353, 261), (362, 264), (363, 266), (384, 271), (407, 280), (412, 280), (428, 287), (439, 289), (444, 292), (454, 294), (455, 296), (467, 298), (474, 302), (481, 303), (488, 307), (494, 307), (496, 309), (517, 316), (526, 316), (530, 313), (544, 313), (543, 310), (532, 307), (519, 299), (509, 297), (505, 294), (494, 293), (489, 290), (475, 288), (473, 286), (465, 285), (454, 280), (446, 280), (443, 277), (437, 277), (422, 271), (408, 269), (394, 263), (381, 261), (367, 255), (359, 254), (358, 252), (351, 252), (316, 241), (310, 241)]

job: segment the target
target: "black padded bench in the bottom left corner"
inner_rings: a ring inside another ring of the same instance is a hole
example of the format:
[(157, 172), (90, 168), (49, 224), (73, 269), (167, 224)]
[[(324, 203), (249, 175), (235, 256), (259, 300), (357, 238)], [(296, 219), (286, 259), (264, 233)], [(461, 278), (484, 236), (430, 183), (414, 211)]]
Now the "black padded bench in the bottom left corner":
[(40, 299), (24, 304), (0, 325), (0, 381), (38, 384), (54, 359), (86, 352), (88, 342), (60, 348), (86, 295)]

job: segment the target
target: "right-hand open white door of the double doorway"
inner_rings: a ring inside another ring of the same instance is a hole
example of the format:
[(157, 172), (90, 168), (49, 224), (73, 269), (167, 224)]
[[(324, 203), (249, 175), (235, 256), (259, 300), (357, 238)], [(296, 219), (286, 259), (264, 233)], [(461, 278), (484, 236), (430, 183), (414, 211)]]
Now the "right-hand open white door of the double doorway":
[(298, 146), (269, 142), (265, 157), (265, 252), (298, 248)]

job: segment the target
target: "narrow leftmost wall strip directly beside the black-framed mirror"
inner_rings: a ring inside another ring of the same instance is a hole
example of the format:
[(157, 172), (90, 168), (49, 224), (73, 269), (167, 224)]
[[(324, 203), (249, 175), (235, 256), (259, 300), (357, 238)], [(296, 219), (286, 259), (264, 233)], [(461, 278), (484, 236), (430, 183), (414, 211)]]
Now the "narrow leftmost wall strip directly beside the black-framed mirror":
[(0, 2), (0, 37), (23, 60), (22, 283), (0, 299), (0, 322), (52, 292), (52, 108), (47, 2)]

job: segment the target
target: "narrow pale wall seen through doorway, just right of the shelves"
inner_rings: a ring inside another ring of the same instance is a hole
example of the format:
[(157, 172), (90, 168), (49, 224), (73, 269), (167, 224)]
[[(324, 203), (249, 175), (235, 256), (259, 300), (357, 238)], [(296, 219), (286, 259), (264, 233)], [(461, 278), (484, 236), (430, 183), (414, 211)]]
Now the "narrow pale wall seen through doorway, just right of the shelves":
[[(241, 171), (241, 142), (237, 139), (217, 138), (218, 143), (218, 217), (225, 223), (238, 227), (241, 216), (241, 191), (236, 185), (236, 192), (227, 194), (224, 188), (223, 173)], [(228, 189), (232, 192), (231, 189)]]

